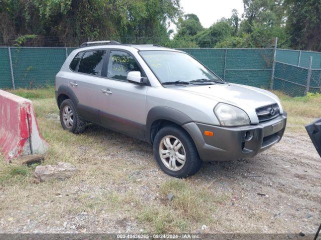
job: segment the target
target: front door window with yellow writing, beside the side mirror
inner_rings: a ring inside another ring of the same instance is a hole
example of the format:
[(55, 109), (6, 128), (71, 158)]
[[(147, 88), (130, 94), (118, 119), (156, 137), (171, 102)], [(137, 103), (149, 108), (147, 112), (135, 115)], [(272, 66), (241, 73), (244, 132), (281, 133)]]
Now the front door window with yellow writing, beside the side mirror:
[(127, 81), (129, 71), (140, 71), (135, 59), (125, 51), (111, 50), (107, 77)]

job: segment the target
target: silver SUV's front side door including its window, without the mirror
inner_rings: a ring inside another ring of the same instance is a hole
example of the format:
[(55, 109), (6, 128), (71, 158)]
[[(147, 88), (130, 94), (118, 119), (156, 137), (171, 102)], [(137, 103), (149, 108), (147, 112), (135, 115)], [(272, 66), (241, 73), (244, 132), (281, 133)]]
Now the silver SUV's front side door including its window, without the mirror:
[(128, 51), (110, 49), (107, 59), (106, 78), (99, 81), (100, 120), (106, 127), (144, 139), (148, 86), (126, 78), (129, 71), (145, 73)]

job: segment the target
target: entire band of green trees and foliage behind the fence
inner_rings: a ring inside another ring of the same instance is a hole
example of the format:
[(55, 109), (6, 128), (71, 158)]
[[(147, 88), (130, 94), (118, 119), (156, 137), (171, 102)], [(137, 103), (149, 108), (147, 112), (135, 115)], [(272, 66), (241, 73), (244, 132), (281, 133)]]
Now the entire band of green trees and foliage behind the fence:
[[(272, 47), (278, 37), (281, 48), (321, 51), (320, 0), (243, 4), (242, 18), (233, 9), (204, 29), (196, 14), (182, 15), (180, 0), (0, 0), (0, 40), (15, 36), (17, 46), (114, 39), (169, 47)], [(170, 23), (177, 25), (173, 39)]]

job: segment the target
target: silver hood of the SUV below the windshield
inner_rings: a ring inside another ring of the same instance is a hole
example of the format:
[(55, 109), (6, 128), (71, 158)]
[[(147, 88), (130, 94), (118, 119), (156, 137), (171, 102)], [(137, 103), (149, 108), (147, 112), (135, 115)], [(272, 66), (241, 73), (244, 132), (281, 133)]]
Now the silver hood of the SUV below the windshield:
[(219, 102), (229, 103), (238, 106), (245, 111), (254, 110), (257, 107), (272, 103), (278, 103), (280, 105), (277, 96), (273, 93), (241, 84), (195, 85), (175, 89), (205, 96)]

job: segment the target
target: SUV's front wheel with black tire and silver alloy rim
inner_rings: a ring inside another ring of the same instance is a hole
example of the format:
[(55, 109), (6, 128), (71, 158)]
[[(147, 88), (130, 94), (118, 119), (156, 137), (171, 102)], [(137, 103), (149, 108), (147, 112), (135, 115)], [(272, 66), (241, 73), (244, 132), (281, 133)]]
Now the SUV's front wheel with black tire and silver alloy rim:
[(156, 133), (153, 151), (159, 167), (171, 176), (188, 177), (202, 166), (193, 139), (183, 128), (176, 125), (165, 126)]

